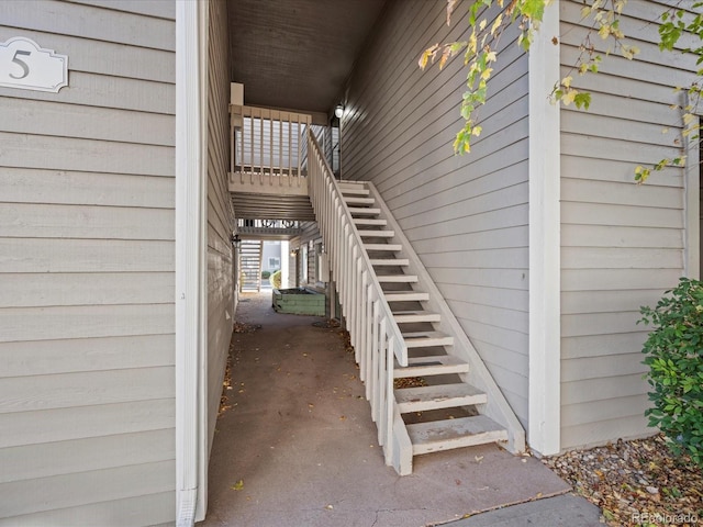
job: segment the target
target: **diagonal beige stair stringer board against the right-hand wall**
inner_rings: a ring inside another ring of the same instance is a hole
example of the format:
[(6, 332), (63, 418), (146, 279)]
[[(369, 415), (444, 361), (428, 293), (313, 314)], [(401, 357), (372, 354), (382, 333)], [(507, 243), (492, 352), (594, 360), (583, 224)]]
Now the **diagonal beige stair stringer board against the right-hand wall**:
[(507, 430), (507, 444), (504, 446), (510, 452), (524, 452), (525, 429), (515, 416), (503, 392), (495, 383), (483, 359), (469, 340), (469, 337), (466, 335), (459, 321), (457, 321), (432, 276), (427, 272), (427, 269), (425, 269), (424, 264), (413, 249), (403, 229), (395, 221), (388, 205), (386, 205), (376, 186), (370, 181), (364, 181), (364, 183), (368, 186), (370, 194), (376, 199), (375, 206), (380, 208), (380, 216), (388, 222), (388, 228), (395, 232), (395, 239), (403, 246), (400, 255), (409, 260), (409, 273), (416, 274), (419, 283), (422, 284), (422, 290), (429, 293), (429, 300), (423, 303), (426, 304), (428, 311), (439, 313), (440, 322), (435, 323), (435, 325), (442, 333), (454, 337), (454, 346), (451, 347), (450, 354), (469, 363), (469, 372), (461, 374), (462, 381), (478, 388), (488, 395), (488, 403), (477, 405), (477, 410)]

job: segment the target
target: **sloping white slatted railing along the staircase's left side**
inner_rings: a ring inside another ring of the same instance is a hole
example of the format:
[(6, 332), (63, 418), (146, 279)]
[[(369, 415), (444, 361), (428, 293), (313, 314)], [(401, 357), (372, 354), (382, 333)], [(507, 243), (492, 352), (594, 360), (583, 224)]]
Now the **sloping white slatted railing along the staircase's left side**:
[(339, 303), (366, 384), (366, 397), (378, 428), (386, 463), (393, 464), (398, 427), (393, 426), (393, 362), (408, 366), (408, 347), (364, 249), (339, 183), (320, 144), (308, 135), (310, 199), (325, 243)]

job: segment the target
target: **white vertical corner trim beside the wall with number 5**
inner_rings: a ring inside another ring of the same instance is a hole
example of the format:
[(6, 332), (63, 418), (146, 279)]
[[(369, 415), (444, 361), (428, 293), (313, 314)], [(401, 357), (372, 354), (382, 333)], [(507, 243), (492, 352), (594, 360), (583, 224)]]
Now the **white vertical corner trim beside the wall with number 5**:
[[(176, 525), (204, 516), (208, 4), (176, 1)], [(198, 75), (193, 75), (198, 74)]]

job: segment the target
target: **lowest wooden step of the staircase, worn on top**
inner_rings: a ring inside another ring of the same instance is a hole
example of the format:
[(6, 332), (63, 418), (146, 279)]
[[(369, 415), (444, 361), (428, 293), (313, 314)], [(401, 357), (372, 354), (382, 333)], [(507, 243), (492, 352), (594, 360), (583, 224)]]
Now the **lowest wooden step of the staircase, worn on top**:
[(413, 456), (506, 441), (507, 431), (484, 415), (408, 425)]

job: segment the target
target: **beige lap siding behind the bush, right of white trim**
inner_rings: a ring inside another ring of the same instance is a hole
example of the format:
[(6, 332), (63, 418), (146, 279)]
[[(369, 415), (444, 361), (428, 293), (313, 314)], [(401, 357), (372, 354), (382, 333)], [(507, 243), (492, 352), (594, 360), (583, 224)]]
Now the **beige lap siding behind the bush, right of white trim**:
[[(587, 34), (581, 7), (560, 2), (563, 75)], [(634, 168), (680, 155), (681, 116), (669, 106), (681, 102), (672, 88), (690, 81), (695, 67), (691, 57), (657, 48), (649, 21), (663, 9), (627, 3), (621, 27), (641, 53), (633, 61), (606, 57), (600, 74), (576, 76), (574, 86), (592, 92), (591, 108), (561, 112), (565, 449), (652, 431), (644, 417), (646, 327), (636, 322), (639, 307), (684, 273), (685, 194), (683, 170), (667, 168), (635, 186)]]

